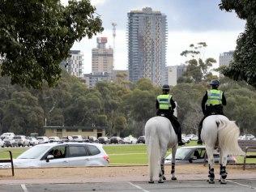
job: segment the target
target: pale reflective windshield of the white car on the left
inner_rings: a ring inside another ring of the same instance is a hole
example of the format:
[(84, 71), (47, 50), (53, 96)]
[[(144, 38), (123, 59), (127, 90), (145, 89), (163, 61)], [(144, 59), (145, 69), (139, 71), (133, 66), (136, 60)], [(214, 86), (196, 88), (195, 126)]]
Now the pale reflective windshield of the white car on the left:
[(45, 151), (47, 151), (51, 146), (45, 145), (36, 145), (28, 149), (28, 151), (24, 151), (17, 159), (36, 159), (41, 156)]

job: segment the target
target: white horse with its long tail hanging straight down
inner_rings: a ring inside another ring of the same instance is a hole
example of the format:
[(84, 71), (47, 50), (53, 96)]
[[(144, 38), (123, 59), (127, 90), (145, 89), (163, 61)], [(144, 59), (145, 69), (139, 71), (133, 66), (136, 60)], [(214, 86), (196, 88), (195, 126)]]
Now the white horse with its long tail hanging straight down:
[(177, 151), (177, 134), (172, 123), (166, 117), (151, 117), (145, 125), (145, 139), (147, 144), (149, 183), (154, 183), (154, 177), (159, 175), (159, 183), (163, 183), (164, 158), (169, 148), (172, 148), (172, 180), (175, 177), (175, 154)]

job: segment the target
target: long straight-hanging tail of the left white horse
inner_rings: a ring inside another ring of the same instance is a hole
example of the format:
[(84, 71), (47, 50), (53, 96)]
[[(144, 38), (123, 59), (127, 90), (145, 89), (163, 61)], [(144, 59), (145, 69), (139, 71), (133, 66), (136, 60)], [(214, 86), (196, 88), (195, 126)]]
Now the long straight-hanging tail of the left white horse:
[(157, 134), (158, 123), (146, 124), (146, 143), (148, 155), (149, 174), (157, 177), (160, 173), (160, 139)]

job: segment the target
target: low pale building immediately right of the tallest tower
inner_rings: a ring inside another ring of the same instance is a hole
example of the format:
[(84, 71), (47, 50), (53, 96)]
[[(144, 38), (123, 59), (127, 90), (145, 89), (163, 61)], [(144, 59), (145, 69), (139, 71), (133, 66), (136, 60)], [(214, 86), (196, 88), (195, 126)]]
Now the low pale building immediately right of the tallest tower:
[(186, 65), (180, 66), (167, 66), (167, 79), (168, 84), (175, 86), (177, 85), (177, 79), (179, 79), (182, 74), (186, 71)]

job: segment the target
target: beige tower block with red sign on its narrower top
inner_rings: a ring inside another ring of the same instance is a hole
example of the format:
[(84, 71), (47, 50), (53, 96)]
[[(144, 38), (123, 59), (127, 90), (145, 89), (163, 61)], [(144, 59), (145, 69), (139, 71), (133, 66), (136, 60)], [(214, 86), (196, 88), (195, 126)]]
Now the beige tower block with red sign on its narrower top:
[(97, 37), (97, 47), (92, 49), (92, 73), (113, 72), (113, 49), (106, 48), (107, 37)]

